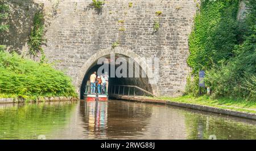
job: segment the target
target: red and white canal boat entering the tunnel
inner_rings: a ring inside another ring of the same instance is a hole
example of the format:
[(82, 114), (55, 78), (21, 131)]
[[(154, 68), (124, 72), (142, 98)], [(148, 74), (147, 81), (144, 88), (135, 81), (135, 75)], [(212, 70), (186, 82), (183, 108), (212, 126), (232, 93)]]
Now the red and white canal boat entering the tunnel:
[[(96, 89), (97, 89), (97, 87), (96, 87)], [(90, 81), (88, 81), (85, 86), (84, 99), (86, 101), (108, 101), (109, 100), (108, 94), (100, 94), (100, 93), (92, 94), (89, 92), (91, 92)], [(106, 92), (106, 90), (105, 90), (105, 92)]]

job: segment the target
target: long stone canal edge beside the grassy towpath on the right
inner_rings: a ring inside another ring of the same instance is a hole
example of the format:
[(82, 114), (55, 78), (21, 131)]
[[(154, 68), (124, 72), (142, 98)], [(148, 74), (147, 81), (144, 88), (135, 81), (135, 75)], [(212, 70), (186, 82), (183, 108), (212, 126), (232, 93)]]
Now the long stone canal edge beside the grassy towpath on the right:
[(131, 100), (131, 101), (137, 101), (137, 102), (172, 105), (172, 106), (185, 107), (185, 108), (189, 108), (189, 109), (209, 111), (209, 112), (217, 113), (217, 114), (225, 114), (225, 115), (231, 115), (234, 117), (248, 118), (248, 119), (256, 120), (256, 114), (246, 113), (246, 112), (242, 112), (242, 111), (233, 111), (230, 109), (221, 109), (218, 107), (196, 105), (196, 104), (191, 104), (191, 103), (180, 103), (180, 102), (166, 101), (166, 100), (152, 100), (149, 98), (139, 98), (139, 97), (131, 97), (131, 96), (113, 96), (113, 97), (121, 99), (121, 100)]

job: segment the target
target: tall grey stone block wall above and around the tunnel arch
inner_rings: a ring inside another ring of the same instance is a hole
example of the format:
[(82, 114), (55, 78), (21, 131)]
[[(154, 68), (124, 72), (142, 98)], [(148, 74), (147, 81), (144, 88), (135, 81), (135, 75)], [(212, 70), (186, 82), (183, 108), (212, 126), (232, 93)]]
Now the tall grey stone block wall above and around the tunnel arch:
[[(15, 0), (18, 1), (23, 2), (20, 8), (26, 9), (30, 5), (28, 0), (24, 0), (28, 3)], [(131, 50), (140, 57), (160, 59), (157, 84), (160, 94), (176, 96), (184, 91), (190, 71), (187, 66), (188, 35), (196, 13), (194, 0), (106, 0), (100, 13), (89, 7), (91, 0), (31, 2), (42, 6), (46, 14), (46, 57), (49, 62), (56, 62), (56, 68), (71, 76), (76, 87), (79, 87), (76, 83), (81, 80), (77, 78), (86, 60), (119, 41), (118, 47)], [(132, 7), (129, 2), (133, 3)], [(35, 11), (31, 9), (28, 8), (27, 24), (31, 24)], [(162, 14), (158, 16), (156, 11), (162, 11)], [(124, 23), (118, 23), (118, 20)], [(154, 21), (160, 24), (155, 33)], [(125, 31), (119, 31), (120, 28)], [(28, 33), (22, 35), (26, 37)], [(11, 45), (17, 41), (16, 36), (13, 37), (14, 40), (5, 43)], [(25, 43), (16, 48), (26, 48)]]

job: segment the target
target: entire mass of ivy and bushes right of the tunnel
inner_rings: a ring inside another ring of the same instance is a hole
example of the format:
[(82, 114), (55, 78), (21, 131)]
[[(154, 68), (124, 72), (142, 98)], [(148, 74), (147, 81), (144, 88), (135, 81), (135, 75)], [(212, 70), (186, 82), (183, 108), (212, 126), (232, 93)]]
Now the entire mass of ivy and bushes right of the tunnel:
[[(237, 20), (238, 4), (238, 0), (202, 1), (189, 36), (187, 62), (193, 75), (206, 71), (205, 84), (214, 97), (256, 101), (256, 4), (249, 0), (242, 22)], [(196, 93), (193, 89), (189, 93)]]

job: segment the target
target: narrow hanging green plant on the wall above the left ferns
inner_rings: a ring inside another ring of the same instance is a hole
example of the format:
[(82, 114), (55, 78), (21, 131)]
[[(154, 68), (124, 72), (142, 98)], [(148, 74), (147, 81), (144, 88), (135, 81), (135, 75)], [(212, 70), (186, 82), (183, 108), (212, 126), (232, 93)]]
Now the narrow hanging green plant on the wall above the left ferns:
[(37, 56), (39, 52), (41, 53), (41, 62), (44, 62), (45, 58), (42, 48), (42, 45), (45, 41), (46, 39), (44, 39), (44, 16), (42, 12), (36, 12), (34, 16), (34, 26), (28, 38), (27, 44), (30, 55)]

